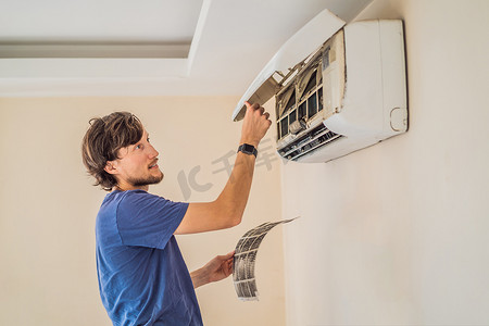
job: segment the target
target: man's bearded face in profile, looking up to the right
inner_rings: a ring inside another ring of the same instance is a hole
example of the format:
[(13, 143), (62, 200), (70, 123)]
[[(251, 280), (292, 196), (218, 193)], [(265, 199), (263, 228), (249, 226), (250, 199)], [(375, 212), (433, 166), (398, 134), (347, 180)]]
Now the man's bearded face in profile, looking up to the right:
[(108, 162), (108, 165), (112, 165), (112, 173), (108, 172), (115, 176), (118, 187), (123, 190), (148, 190), (148, 185), (163, 179), (163, 173), (156, 164), (158, 155), (159, 152), (149, 142), (148, 133), (145, 130), (138, 142), (120, 149), (120, 159)]

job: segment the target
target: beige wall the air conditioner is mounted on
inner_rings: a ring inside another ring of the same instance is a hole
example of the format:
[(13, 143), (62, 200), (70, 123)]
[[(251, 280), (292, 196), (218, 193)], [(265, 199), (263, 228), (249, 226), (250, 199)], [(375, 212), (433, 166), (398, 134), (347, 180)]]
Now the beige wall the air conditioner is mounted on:
[(403, 18), (410, 130), (283, 170), (287, 325), (489, 324), (489, 1), (376, 0)]

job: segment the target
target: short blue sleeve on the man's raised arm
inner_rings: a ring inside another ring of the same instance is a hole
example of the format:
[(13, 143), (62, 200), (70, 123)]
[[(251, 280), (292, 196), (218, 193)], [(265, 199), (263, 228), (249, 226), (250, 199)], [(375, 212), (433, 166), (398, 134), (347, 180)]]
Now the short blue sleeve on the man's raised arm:
[(164, 249), (188, 203), (173, 202), (143, 190), (126, 191), (117, 208), (117, 229), (123, 244)]

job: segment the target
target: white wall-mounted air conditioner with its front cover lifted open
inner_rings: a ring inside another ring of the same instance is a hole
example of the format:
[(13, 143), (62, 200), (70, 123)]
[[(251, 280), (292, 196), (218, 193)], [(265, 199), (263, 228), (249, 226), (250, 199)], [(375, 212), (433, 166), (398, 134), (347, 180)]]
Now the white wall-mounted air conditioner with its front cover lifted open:
[(402, 21), (344, 26), (328, 10), (293, 35), (237, 104), (275, 96), (277, 151), (327, 162), (408, 129)]

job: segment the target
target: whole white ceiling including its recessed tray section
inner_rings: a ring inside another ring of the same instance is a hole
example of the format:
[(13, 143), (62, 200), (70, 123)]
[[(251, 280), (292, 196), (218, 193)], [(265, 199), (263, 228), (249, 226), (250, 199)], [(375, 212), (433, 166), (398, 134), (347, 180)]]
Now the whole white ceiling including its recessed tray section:
[(0, 97), (240, 96), (323, 9), (369, 2), (0, 0)]

